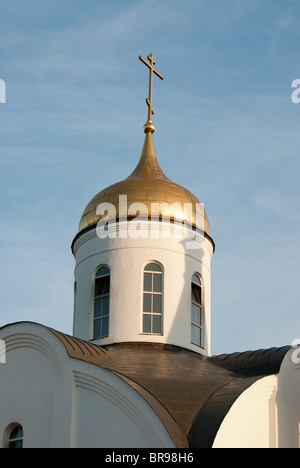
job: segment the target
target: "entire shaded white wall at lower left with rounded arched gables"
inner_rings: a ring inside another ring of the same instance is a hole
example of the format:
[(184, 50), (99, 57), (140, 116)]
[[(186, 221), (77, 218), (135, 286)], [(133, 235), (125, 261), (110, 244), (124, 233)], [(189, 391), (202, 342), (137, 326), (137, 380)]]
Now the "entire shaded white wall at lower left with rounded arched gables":
[(6, 428), (24, 428), (24, 448), (174, 447), (160, 419), (109, 371), (70, 358), (47, 328), (19, 323), (0, 330), (0, 446)]

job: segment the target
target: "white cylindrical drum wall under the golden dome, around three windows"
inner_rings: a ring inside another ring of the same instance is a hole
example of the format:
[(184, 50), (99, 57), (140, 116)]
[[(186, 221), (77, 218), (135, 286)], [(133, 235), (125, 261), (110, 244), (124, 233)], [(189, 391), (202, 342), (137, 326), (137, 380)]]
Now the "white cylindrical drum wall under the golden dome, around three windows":
[[(149, 236), (150, 237), (150, 236)], [(211, 270), (213, 247), (208, 239), (198, 249), (187, 249), (183, 239), (99, 239), (95, 229), (81, 235), (75, 243), (75, 281), (77, 285), (74, 336), (91, 340), (93, 336), (93, 285), (101, 265), (111, 269), (110, 334), (97, 340), (105, 345), (123, 341), (169, 343), (210, 354)], [(142, 334), (143, 269), (159, 262), (164, 272), (164, 333)], [(191, 278), (203, 278), (205, 301), (205, 349), (191, 344)]]

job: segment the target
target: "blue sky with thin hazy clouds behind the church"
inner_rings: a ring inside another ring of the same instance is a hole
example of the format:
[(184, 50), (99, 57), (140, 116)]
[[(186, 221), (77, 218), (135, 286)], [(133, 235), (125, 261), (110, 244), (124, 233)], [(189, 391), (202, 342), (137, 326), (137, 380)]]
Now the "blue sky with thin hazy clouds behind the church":
[(297, 0), (0, 0), (0, 326), (72, 332), (70, 245), (134, 169), (154, 53), (156, 153), (207, 210), (213, 352), (300, 338)]

